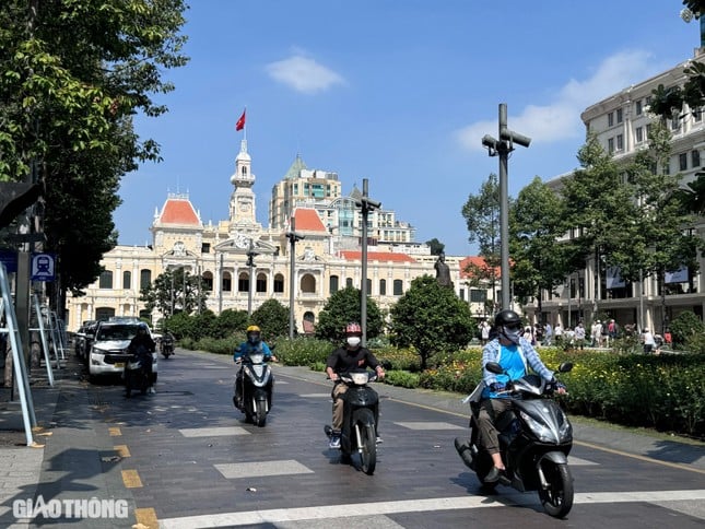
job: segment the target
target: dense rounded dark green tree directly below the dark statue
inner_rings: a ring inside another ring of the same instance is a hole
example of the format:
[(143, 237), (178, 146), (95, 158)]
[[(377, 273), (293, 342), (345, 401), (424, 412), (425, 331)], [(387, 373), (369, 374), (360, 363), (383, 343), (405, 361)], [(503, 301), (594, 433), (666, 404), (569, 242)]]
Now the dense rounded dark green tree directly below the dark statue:
[(431, 275), (414, 279), (411, 287), (391, 307), (389, 316), (391, 343), (400, 348), (413, 346), (422, 369), (437, 353), (465, 348), (474, 332), (469, 305)]

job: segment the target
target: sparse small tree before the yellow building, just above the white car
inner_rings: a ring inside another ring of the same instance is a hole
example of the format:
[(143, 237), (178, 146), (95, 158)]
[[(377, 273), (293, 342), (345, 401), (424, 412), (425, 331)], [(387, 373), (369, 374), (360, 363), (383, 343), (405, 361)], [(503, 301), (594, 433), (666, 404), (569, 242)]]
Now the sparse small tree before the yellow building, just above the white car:
[(202, 289), (202, 283), (200, 275), (192, 275), (184, 268), (171, 269), (142, 289), (140, 301), (145, 303), (146, 310), (156, 308), (166, 315), (203, 311), (208, 292)]

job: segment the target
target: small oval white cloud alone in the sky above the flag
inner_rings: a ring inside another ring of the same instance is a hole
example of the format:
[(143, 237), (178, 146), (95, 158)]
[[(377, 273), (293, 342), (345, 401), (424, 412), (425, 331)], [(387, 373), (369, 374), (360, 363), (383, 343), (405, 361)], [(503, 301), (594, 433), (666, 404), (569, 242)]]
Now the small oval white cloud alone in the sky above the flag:
[(304, 94), (314, 94), (345, 81), (334, 71), (302, 55), (267, 64), (269, 75)]

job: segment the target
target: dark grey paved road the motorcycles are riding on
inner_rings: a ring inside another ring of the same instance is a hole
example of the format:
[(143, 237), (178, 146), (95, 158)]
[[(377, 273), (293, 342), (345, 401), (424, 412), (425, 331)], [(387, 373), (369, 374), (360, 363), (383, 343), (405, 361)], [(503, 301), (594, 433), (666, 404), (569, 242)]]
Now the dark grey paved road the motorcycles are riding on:
[(257, 427), (232, 404), (235, 372), (230, 357), (177, 350), (160, 361), (156, 395), (128, 400), (117, 384), (89, 387), (99, 409), (95, 428), (120, 454), (116, 470), (126, 489), (110, 487), (116, 497), (133, 497), (139, 522), (188, 529), (705, 526), (705, 469), (636, 454), (628, 436), (620, 447), (613, 438), (601, 445), (599, 432), (581, 442), (576, 431), (575, 505), (556, 520), (536, 493), (481, 490), (453, 444), (467, 433), (462, 408), (375, 385), (384, 443), (371, 477), (328, 448), (331, 383), (325, 375), (275, 365), (273, 408)]

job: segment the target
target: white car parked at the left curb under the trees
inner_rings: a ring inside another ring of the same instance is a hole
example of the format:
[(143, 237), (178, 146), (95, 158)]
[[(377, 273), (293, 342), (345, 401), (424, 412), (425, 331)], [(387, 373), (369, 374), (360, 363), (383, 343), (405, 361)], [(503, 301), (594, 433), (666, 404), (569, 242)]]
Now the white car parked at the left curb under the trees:
[[(128, 348), (140, 326), (144, 322), (101, 321), (95, 330), (95, 339), (91, 344), (89, 376), (91, 380), (102, 375), (121, 375), (130, 353)], [(152, 336), (149, 326), (148, 332)], [(157, 353), (152, 353), (153, 381), (156, 381)]]

